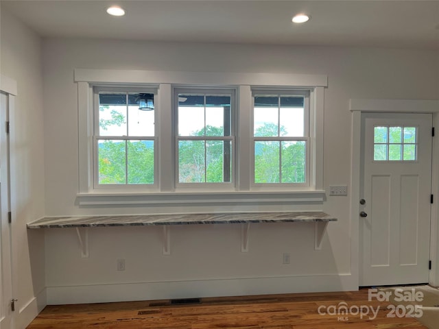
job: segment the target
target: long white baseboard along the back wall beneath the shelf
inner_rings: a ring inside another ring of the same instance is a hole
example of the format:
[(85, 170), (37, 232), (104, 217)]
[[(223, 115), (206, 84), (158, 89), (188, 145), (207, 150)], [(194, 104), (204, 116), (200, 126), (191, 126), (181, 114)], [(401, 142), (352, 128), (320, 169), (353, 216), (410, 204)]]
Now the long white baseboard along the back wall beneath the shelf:
[(47, 304), (84, 304), (324, 291), (355, 291), (351, 274), (46, 287)]

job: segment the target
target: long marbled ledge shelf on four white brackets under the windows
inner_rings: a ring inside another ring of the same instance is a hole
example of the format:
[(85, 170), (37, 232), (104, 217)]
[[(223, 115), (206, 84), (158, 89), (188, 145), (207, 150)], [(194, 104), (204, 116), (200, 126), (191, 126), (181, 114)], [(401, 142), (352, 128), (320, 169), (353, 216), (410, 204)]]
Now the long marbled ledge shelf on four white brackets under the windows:
[(117, 215), (84, 217), (44, 217), (27, 224), (29, 229), (75, 228), (81, 256), (87, 258), (88, 229), (108, 226), (163, 226), (163, 254), (171, 254), (171, 225), (241, 224), (241, 252), (248, 252), (251, 223), (313, 223), (314, 248), (322, 247), (322, 238), (329, 221), (337, 221), (325, 212), (222, 212), (160, 215)]

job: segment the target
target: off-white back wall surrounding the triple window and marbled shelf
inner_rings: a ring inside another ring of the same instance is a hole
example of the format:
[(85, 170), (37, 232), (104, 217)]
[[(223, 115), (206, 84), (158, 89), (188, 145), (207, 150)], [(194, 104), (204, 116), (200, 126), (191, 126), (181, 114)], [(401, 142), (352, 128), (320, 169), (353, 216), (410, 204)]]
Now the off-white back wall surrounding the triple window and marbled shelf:
[[(437, 99), (438, 52), (331, 47), (278, 47), (77, 40), (43, 42), (46, 215), (209, 211), (209, 206), (79, 208), (78, 102), (74, 69), (140, 69), (329, 76), (325, 90), (324, 186), (351, 178), (350, 98)], [(240, 252), (239, 226), (171, 228), (171, 255), (161, 254), (160, 228), (93, 228), (90, 258), (80, 258), (72, 229), (47, 230), (49, 303), (206, 295), (357, 289), (351, 273), (349, 197), (313, 206), (230, 206), (222, 210), (324, 210), (322, 250), (309, 224), (257, 224), (250, 252)], [(218, 209), (215, 209), (218, 210)], [(282, 253), (292, 255), (282, 265)], [(126, 271), (116, 271), (126, 258)], [(354, 257), (355, 258), (355, 257)], [(355, 265), (356, 266), (356, 265)]]

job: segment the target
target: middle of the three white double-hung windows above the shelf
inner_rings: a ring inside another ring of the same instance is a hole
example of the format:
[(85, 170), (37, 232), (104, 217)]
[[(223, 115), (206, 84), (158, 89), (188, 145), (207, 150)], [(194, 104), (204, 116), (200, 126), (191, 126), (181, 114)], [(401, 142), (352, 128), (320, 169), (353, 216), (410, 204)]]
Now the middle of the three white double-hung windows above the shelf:
[(235, 90), (176, 89), (178, 184), (233, 183)]

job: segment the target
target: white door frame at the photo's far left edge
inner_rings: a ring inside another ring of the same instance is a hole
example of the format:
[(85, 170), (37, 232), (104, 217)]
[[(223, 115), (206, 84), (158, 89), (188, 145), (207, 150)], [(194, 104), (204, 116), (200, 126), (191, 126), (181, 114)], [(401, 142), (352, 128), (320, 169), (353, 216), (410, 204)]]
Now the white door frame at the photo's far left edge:
[[(12, 80), (10, 77), (6, 77), (5, 75), (0, 75), (0, 92), (2, 94), (5, 94), (6, 97), (7, 97), (6, 98), (6, 101), (7, 101), (6, 106), (7, 106), (7, 108), (6, 108), (6, 112), (5, 112), (5, 115), (6, 115), (5, 119), (10, 121), (10, 114), (12, 112), (14, 112), (15, 97), (17, 95), (17, 84), (16, 84), (16, 81)], [(2, 134), (5, 133), (5, 128), (6, 127), (3, 125), (3, 123), (1, 123), (0, 129), (3, 130)], [(5, 134), (5, 136), (7, 136), (7, 135)], [(8, 140), (9, 140), (8, 150), (6, 150), (6, 151), (2, 150), (1, 152), (2, 152), (2, 154), (4, 154), (4, 152), (8, 152), (8, 154), (7, 154), (7, 156), (8, 156), (8, 169), (7, 169), (8, 173), (7, 173), (7, 176), (8, 177), (5, 180), (5, 181), (8, 182), (8, 186), (7, 186), (7, 189), (8, 189), (8, 201), (7, 201), (8, 209), (6, 211), (12, 211), (12, 202), (13, 202), (13, 200), (12, 200), (12, 193), (11, 193), (12, 186), (10, 185), (11, 184), (10, 178), (11, 178), (11, 170), (13, 170), (13, 169), (11, 167), (11, 158), (10, 158), (10, 152), (11, 152), (11, 149), (10, 149), (10, 136), (9, 136)], [(4, 212), (3, 209), (2, 209), (2, 212)], [(10, 230), (10, 239), (12, 239), (12, 234), (11, 234), (12, 224), (10, 224), (9, 230)], [(12, 297), (13, 298), (14, 292), (16, 291), (16, 282), (14, 282), (14, 273), (16, 273), (16, 272), (15, 272), (15, 269), (14, 269), (13, 241), (9, 241), (9, 243), (10, 243), (10, 247), (9, 247), (9, 255), (8, 256), (10, 257), (10, 264), (9, 264), (10, 265), (10, 280), (11, 280), (11, 282), (10, 282), (11, 283), (11, 291), (10, 291), (10, 293), (12, 294), (12, 296), (8, 296), (8, 297)], [(0, 262), (1, 262), (0, 267), (3, 267), (3, 260), (0, 260)], [(1, 279), (3, 280), (3, 278), (1, 278)], [(3, 296), (1, 296), (1, 298), (3, 299)], [(5, 300), (5, 301), (2, 300), (2, 303), (3, 302), (8, 302), (8, 300)], [(10, 322), (9, 322), (9, 324), (12, 325), (12, 327), (14, 326), (14, 321), (15, 321), (14, 312), (11, 312), (10, 313)]]

